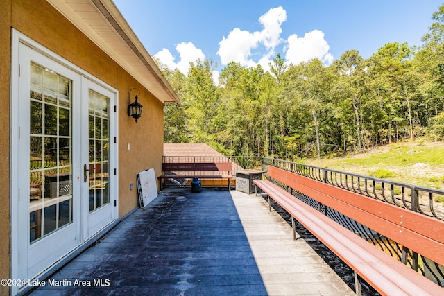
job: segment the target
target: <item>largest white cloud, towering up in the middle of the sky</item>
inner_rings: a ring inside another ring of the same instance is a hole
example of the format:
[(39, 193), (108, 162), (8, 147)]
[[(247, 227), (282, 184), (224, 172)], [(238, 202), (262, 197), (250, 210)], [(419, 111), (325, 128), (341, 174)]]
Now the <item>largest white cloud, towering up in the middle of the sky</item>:
[(259, 62), (259, 64), (262, 64), (264, 58), (267, 57), (266, 59), (268, 59), (273, 55), (275, 47), (282, 43), (280, 38), (282, 28), (280, 26), (284, 21), (287, 21), (287, 12), (279, 6), (271, 8), (266, 14), (259, 17), (259, 23), (264, 26), (262, 31), (250, 33), (234, 28), (226, 38), (223, 36), (221, 42), (219, 42), (217, 54), (221, 57), (222, 64), (239, 62), (242, 66), (255, 67), (257, 63), (251, 59), (252, 50), (259, 45), (263, 45), (267, 52), (261, 54), (262, 62)]

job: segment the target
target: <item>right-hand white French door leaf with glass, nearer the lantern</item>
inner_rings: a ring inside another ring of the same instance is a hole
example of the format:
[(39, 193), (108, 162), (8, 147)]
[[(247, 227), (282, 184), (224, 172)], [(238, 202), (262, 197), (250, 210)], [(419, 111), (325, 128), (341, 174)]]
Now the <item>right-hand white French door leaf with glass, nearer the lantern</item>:
[[(112, 114), (110, 103), (114, 106), (114, 94), (96, 83), (83, 79), (82, 98), (85, 107), (82, 110), (81, 163), (83, 164), (83, 180), (81, 180), (82, 204), (82, 236), (86, 240), (96, 234), (103, 225), (114, 220), (116, 197), (111, 194), (110, 157), (115, 155), (113, 125), (110, 125)], [(114, 119), (113, 119), (114, 121)], [(113, 192), (115, 193), (115, 191)], [(116, 201), (117, 202), (117, 201)]]

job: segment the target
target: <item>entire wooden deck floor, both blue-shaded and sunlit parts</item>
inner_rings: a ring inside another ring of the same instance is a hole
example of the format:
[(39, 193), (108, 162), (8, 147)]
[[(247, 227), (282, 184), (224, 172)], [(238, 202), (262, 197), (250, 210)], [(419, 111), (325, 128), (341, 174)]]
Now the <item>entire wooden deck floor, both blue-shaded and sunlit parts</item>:
[(135, 294), (354, 295), (262, 198), (189, 188), (165, 189), (31, 293)]

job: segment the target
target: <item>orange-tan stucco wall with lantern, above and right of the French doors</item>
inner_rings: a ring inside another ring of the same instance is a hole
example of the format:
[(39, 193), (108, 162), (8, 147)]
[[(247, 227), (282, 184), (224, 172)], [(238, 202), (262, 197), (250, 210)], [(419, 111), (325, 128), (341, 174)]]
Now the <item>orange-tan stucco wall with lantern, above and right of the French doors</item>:
[[(135, 173), (155, 168), (160, 174), (163, 103), (46, 1), (14, 1), (12, 27), (119, 91), (119, 215), (127, 214), (137, 207), (137, 191), (130, 191), (130, 183), (136, 185)], [(134, 101), (134, 92), (129, 97), (133, 87), (140, 90), (139, 103), (144, 105), (137, 123), (126, 114), (128, 103)]]

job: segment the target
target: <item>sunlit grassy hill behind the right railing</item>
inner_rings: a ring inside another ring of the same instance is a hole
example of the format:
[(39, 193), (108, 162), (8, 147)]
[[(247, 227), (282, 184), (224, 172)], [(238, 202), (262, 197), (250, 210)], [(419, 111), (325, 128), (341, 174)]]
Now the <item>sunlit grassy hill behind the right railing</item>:
[(367, 153), (302, 163), (444, 189), (444, 142), (409, 141), (380, 146)]

